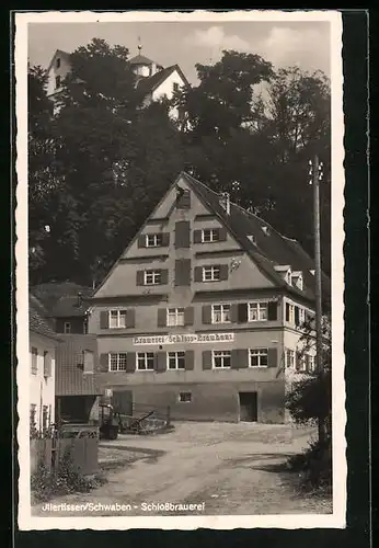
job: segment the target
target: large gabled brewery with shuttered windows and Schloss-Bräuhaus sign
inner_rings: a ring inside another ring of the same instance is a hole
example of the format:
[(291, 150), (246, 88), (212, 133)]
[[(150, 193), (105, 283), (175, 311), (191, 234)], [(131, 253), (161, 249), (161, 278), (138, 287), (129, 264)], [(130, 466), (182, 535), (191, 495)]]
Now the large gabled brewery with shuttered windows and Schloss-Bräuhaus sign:
[(283, 422), (286, 366), (314, 361), (299, 355), (313, 269), (297, 241), (182, 173), (91, 299), (103, 393), (174, 419)]

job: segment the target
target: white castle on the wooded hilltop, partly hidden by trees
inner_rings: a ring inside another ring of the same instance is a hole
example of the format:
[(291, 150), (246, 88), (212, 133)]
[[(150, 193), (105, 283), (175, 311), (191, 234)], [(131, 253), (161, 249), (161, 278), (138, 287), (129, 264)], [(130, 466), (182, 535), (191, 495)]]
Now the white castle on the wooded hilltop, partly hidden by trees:
[[(142, 91), (145, 98), (143, 106), (163, 98), (170, 100), (176, 90), (190, 85), (179, 65), (163, 68), (161, 65), (141, 55), (140, 46), (138, 49), (139, 54), (133, 57), (129, 62), (137, 77), (136, 84)], [(57, 49), (47, 69), (47, 95), (51, 100), (55, 100), (61, 91), (61, 83), (70, 70), (70, 54)], [(177, 110), (172, 109), (171, 115), (177, 117)]]

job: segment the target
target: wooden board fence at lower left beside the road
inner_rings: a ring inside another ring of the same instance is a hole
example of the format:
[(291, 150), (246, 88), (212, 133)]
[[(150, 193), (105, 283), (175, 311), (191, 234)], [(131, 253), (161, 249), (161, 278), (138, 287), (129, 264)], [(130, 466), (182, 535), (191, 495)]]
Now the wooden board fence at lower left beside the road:
[[(71, 432), (72, 433), (72, 432)], [(64, 456), (70, 454), (74, 468), (82, 475), (95, 473), (99, 469), (99, 436), (65, 436), (31, 439), (31, 472), (38, 463), (47, 469), (57, 469)]]

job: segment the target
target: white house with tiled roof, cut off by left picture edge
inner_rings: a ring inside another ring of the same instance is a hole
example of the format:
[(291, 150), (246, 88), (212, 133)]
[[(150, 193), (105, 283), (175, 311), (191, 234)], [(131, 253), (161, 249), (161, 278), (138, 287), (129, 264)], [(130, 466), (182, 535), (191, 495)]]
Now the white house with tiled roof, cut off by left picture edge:
[(58, 338), (42, 302), (30, 295), (30, 421), (39, 432), (47, 430), (55, 415), (55, 368)]

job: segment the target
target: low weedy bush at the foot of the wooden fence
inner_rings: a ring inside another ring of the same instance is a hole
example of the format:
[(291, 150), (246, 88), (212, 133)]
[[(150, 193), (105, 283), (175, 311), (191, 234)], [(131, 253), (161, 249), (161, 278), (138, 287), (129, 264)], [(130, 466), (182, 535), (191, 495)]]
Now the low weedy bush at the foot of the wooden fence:
[(37, 502), (47, 501), (55, 495), (76, 492), (89, 492), (104, 483), (100, 475), (89, 478), (83, 476), (72, 464), (68, 449), (55, 469), (49, 469), (43, 461), (37, 465), (31, 478), (31, 490)]

